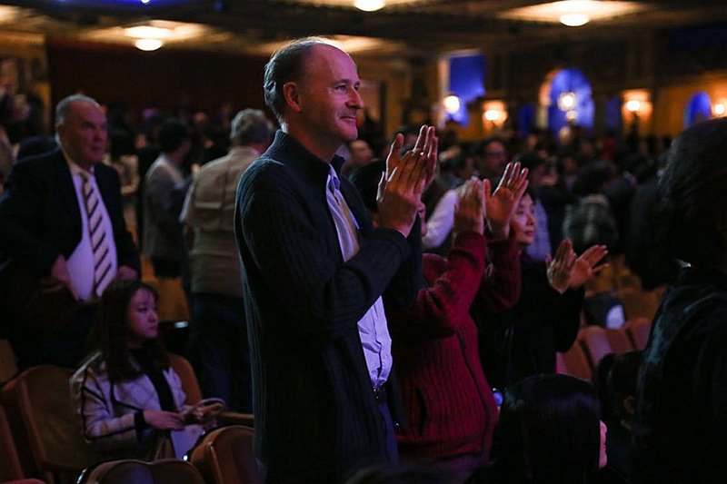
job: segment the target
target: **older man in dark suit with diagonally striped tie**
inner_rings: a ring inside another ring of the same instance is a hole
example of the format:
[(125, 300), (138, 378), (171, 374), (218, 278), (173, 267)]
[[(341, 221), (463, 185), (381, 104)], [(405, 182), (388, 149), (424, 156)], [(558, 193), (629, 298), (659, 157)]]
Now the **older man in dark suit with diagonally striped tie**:
[(15, 322), (5, 330), (21, 367), (74, 367), (84, 356), (95, 299), (115, 278), (139, 274), (118, 174), (100, 163), (104, 111), (94, 99), (75, 94), (58, 103), (55, 118), (60, 148), (15, 164), (0, 197), (0, 282), (8, 287), (15, 273), (10, 268), (22, 268), (63, 286), (79, 308), (53, 335), (26, 327), (23, 314), (6, 314)]

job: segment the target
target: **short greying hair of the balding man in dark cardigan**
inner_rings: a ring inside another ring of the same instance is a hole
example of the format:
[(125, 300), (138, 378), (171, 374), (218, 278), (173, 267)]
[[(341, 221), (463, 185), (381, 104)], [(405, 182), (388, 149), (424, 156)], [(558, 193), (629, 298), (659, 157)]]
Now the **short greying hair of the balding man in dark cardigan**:
[(285, 112), (283, 86), (290, 82), (300, 82), (304, 74), (305, 61), (315, 45), (328, 44), (319, 37), (298, 39), (275, 52), (265, 64), (263, 76), (265, 104), (273, 110), (280, 123), (283, 123)]

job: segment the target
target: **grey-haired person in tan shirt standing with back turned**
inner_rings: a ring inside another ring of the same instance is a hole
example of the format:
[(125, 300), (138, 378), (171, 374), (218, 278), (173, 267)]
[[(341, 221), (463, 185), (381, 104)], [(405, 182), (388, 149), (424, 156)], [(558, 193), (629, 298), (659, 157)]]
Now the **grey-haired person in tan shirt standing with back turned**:
[(255, 109), (232, 122), (232, 149), (194, 175), (184, 201), (192, 278), (190, 347), (205, 397), (253, 411), (250, 356), (244, 323), (243, 284), (234, 242), (234, 195), (240, 176), (268, 147), (274, 127)]

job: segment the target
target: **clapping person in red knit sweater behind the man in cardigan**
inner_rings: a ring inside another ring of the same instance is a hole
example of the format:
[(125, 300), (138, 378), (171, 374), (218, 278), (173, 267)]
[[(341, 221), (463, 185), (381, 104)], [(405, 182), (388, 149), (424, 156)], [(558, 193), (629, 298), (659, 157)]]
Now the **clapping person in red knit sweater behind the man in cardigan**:
[[(374, 223), (375, 183), (383, 169), (383, 163), (374, 164), (352, 177)], [(409, 422), (396, 436), (403, 460), (435, 462), (466, 477), (487, 459), (497, 408), (468, 311), (475, 297), (493, 311), (502, 311), (520, 296), (518, 250), (507, 234), (526, 177), (527, 171), (509, 164), (493, 195), (489, 181), (468, 181), (454, 212), (455, 236), (448, 258), (424, 254), (427, 287), (413, 306), (386, 311)], [(491, 236), (485, 236), (485, 212)], [(491, 263), (485, 261), (488, 250)]]

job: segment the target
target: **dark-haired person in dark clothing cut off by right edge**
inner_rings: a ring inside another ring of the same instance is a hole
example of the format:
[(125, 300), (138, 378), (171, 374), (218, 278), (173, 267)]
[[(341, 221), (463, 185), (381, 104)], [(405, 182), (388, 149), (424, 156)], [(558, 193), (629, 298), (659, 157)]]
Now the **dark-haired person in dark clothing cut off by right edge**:
[(724, 482), (727, 456), (727, 119), (672, 143), (660, 182), (662, 244), (687, 262), (670, 283), (639, 370), (643, 482)]

